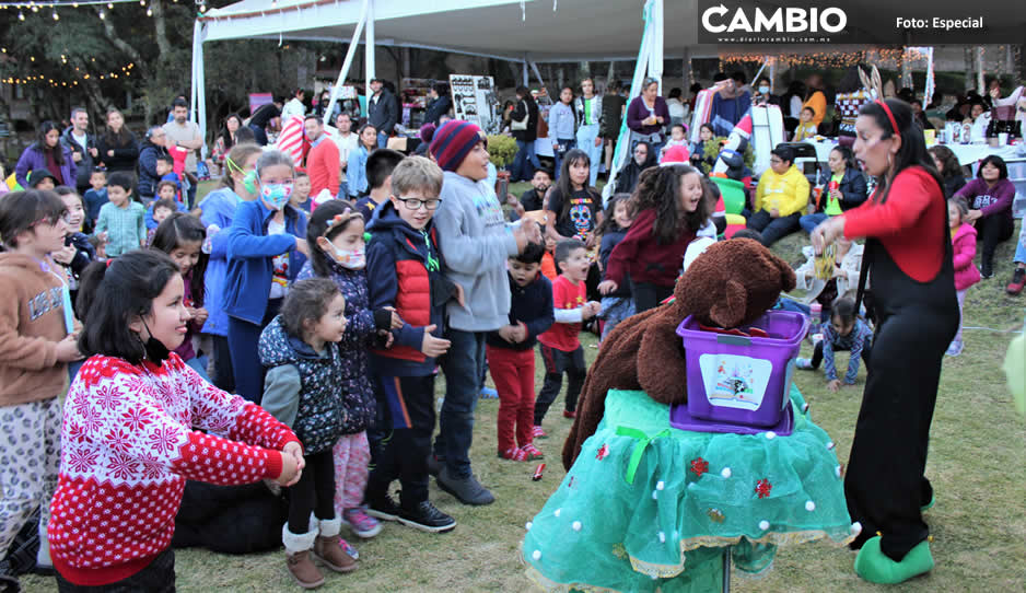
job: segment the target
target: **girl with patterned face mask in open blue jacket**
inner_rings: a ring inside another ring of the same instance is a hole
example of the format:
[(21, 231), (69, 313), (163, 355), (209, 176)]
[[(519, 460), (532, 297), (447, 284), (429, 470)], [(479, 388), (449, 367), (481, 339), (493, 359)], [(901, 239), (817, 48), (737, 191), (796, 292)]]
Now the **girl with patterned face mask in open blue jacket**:
[(281, 309), (289, 270), (299, 271), (303, 265), (299, 257), (310, 253), (302, 239), (306, 219), (289, 205), (294, 173), (287, 154), (264, 152), (252, 182), (259, 197), (240, 204), (232, 225), (224, 231), (228, 271), (223, 306), (235, 391), (257, 403), (264, 394), (264, 369), (257, 351), (260, 330)]

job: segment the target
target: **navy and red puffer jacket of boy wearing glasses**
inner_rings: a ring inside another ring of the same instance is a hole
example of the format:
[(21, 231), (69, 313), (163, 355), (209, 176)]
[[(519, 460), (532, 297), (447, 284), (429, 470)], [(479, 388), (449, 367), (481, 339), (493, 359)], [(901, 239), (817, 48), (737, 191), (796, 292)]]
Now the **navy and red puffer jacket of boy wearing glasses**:
[[(366, 251), (366, 278), (371, 311), (394, 306), (403, 327), (393, 329), (395, 342), (388, 350), (371, 352), (371, 365), (378, 375), (424, 376), (434, 372), (435, 360), (420, 352), (424, 327), (435, 325), (432, 335), (442, 337), (445, 303), (456, 294), (456, 284), (442, 276), (445, 265), (433, 223), (424, 233), (413, 230), (396, 213), (392, 201), (378, 207), (371, 224)], [(429, 269), (429, 257), (436, 261)], [(411, 322), (413, 325), (411, 325)]]

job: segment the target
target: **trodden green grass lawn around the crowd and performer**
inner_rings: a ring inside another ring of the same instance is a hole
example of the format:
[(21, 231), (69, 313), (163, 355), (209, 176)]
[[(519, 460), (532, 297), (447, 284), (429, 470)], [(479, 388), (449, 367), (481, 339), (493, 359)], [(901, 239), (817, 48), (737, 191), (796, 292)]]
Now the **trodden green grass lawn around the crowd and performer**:
[[(520, 194), (520, 189), (514, 191)], [(1018, 223), (1015, 236), (1017, 230)], [(804, 236), (792, 235), (774, 249), (795, 263), (804, 241)], [(937, 497), (936, 505), (925, 514), (934, 536), (936, 568), (897, 588), (875, 586), (854, 575), (854, 553), (825, 543), (805, 544), (780, 549), (765, 578), (736, 578), (735, 591), (1026, 591), (1026, 422), (1015, 416), (1001, 372), (1013, 337), (1007, 332), (1022, 328), (1026, 304), (1026, 296), (1004, 293), (1013, 248), (1013, 241), (1001, 245), (998, 276), (973, 287), (966, 302), (967, 326), (1005, 333), (967, 329), (965, 352), (944, 364), (926, 466)], [(582, 341), (588, 360), (593, 360), (597, 352), (594, 337), (582, 335)], [(804, 348), (804, 356), (809, 356), (809, 347)], [(844, 364), (847, 353), (839, 357), (839, 365)], [(541, 385), (541, 369), (538, 359), (536, 389)], [(821, 372), (795, 373), (795, 382), (811, 403), (813, 419), (837, 443), (842, 462), (848, 460), (864, 374), (863, 368), (854, 387), (830, 394)], [(436, 393), (444, 393), (443, 380)], [(559, 456), (571, 421), (559, 414), (562, 406), (557, 402), (545, 420), (550, 438), (537, 443), (547, 455), (545, 477), (532, 481), (534, 463), (495, 456), (498, 409), (498, 400), (479, 402), (471, 451), (475, 472), (495, 493), (497, 502), (463, 507), (432, 481), (432, 500), (458, 522), (454, 532), (428, 535), (388, 524), (374, 539), (354, 542), (361, 555), (359, 570), (327, 574), (322, 591), (532, 590), (520, 560), (520, 543), (524, 524), (564, 476)], [(281, 551), (232, 557), (191, 549), (179, 550), (176, 557), (179, 591), (299, 591), (288, 575)], [(53, 579), (25, 578), (23, 585), (31, 592), (56, 591)]]

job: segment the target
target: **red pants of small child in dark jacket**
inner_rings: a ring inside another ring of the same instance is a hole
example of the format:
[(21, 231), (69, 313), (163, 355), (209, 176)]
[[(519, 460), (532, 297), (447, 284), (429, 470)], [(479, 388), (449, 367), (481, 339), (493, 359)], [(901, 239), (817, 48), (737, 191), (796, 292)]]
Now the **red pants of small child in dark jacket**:
[(499, 452), (529, 444), (535, 418), (534, 348), (513, 350), (488, 345), (485, 351), (499, 392)]

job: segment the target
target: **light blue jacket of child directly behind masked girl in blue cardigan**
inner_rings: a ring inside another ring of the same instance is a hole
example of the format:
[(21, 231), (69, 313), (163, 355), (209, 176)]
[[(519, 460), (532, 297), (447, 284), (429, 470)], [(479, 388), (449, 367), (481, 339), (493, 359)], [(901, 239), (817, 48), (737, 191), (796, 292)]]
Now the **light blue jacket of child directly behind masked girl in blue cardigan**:
[(202, 214), (199, 220), (203, 226), (217, 224), (219, 231), (210, 240), (210, 260), (207, 263), (207, 274), (203, 276), (203, 306), (207, 309), (207, 323), (203, 324), (203, 334), (228, 337), (228, 314), (224, 312), (224, 276), (228, 274), (228, 229), (235, 218), (235, 207), (242, 204), (242, 198), (230, 187), (214, 189), (207, 195), (200, 204)]

